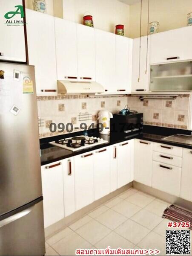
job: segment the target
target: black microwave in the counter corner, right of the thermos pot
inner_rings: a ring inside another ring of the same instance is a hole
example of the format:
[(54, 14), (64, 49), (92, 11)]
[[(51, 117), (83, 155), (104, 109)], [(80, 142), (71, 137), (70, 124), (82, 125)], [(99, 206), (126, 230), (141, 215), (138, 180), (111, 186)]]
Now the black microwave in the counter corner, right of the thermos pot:
[(114, 114), (110, 121), (111, 132), (128, 134), (143, 129), (143, 113)]

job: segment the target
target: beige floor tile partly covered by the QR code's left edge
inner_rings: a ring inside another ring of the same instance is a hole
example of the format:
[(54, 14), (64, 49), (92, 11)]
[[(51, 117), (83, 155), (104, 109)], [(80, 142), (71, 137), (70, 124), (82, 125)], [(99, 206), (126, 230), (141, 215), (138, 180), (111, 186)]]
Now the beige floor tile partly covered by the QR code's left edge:
[(166, 255), (166, 239), (163, 236), (150, 232), (142, 241), (137, 244), (141, 248), (160, 250), (158, 255)]

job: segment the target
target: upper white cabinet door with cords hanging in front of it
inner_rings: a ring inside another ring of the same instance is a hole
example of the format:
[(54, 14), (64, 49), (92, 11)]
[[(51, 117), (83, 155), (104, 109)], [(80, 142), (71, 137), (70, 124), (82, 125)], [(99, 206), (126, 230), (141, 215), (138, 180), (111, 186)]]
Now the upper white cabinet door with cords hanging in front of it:
[[(149, 90), (150, 67), (149, 67), (149, 48), (150, 36), (133, 39), (133, 61), (132, 61), (132, 92), (143, 92)], [(139, 61), (140, 52), (140, 61)], [(139, 79), (139, 80), (138, 80)]]

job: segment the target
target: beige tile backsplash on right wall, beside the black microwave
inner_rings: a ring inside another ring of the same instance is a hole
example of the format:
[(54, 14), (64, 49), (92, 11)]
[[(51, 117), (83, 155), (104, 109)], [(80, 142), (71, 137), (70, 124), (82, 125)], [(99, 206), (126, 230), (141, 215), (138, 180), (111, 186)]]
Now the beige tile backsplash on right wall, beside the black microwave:
[(189, 118), (189, 94), (176, 99), (144, 99), (139, 96), (128, 96), (128, 106), (143, 113), (145, 125), (187, 129)]

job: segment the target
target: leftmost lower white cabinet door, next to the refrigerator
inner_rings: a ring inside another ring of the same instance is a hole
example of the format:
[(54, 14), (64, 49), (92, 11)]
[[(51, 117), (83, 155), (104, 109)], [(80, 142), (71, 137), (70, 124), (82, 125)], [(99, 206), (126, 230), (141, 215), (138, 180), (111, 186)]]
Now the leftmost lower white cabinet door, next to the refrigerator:
[(44, 225), (49, 227), (64, 218), (62, 162), (41, 166), (41, 177)]

